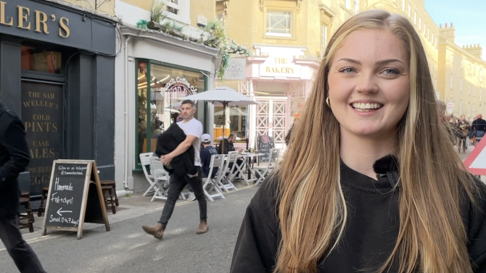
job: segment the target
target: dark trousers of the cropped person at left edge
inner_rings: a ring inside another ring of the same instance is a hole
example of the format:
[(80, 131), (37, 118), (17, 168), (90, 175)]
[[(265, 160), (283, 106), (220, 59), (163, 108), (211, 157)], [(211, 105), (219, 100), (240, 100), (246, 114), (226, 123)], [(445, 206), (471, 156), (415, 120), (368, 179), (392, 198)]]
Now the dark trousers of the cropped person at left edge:
[(0, 239), (20, 273), (46, 273), (32, 248), (22, 239), (18, 218), (0, 218)]

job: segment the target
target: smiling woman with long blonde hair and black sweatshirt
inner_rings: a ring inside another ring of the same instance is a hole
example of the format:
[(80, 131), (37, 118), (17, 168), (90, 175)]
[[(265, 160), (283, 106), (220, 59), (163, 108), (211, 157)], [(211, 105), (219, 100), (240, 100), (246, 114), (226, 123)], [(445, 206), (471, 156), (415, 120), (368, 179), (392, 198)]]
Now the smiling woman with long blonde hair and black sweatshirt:
[[(346, 21), (302, 120), (246, 210), (231, 273), (486, 272), (486, 186), (445, 137), (408, 19)], [(373, 169), (388, 155), (396, 185)]]

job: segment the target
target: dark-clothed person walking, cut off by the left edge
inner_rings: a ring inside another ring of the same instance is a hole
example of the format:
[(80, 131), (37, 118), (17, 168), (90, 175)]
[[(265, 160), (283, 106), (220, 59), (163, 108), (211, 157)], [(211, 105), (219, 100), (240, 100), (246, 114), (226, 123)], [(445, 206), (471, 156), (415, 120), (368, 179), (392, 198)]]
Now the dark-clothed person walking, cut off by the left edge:
[(0, 100), (0, 239), (21, 273), (45, 273), (18, 229), (17, 177), (30, 162), (22, 121)]

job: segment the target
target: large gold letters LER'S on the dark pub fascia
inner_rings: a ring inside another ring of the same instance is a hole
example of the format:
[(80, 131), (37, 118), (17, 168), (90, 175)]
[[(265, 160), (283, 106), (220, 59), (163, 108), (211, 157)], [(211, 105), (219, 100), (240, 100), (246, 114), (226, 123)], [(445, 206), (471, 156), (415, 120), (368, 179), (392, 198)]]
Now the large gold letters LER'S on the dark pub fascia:
[[(6, 1), (0, 1), (0, 25), (7, 25), (13, 26), (14, 20), (17, 23), (18, 28), (22, 29), (32, 29), (31, 25), (31, 17), (33, 16), (35, 20), (35, 28), (36, 32), (49, 34), (49, 27), (47, 22), (49, 21), (49, 17), (51, 21), (56, 21), (57, 16), (55, 14), (48, 15), (47, 13), (41, 10), (34, 10), (34, 12), (30, 12), (30, 8), (17, 5), (18, 14), (17, 18), (14, 18), (13, 14), (6, 14), (6, 5), (9, 5)], [(71, 36), (71, 30), (69, 29), (69, 18), (61, 17), (59, 19), (59, 32), (58, 35), (61, 38), (68, 38)]]

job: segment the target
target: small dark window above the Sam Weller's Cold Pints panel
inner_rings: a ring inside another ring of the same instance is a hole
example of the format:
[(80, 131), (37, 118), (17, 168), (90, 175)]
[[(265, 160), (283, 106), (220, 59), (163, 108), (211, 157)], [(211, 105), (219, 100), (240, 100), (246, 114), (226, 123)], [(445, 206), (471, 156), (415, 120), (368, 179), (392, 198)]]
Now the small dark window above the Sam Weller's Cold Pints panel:
[(62, 58), (60, 52), (29, 46), (21, 47), (22, 70), (61, 74)]

